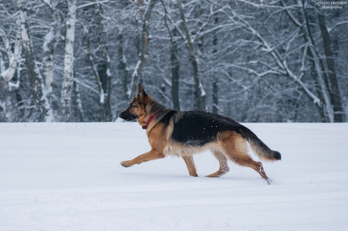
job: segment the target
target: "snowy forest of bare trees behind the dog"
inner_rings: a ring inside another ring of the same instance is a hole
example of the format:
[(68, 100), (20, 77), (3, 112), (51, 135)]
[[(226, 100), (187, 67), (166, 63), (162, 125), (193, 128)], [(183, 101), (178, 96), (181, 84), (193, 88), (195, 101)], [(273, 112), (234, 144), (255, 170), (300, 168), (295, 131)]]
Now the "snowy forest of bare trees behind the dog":
[(0, 122), (115, 121), (138, 84), (239, 122), (348, 121), (347, 1), (0, 0)]

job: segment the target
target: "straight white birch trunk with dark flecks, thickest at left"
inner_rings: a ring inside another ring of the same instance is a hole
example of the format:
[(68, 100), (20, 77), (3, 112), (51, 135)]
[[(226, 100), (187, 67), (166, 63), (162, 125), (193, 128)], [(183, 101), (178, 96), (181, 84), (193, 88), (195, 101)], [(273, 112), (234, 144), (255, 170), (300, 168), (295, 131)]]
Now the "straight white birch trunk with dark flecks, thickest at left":
[(77, 0), (69, 1), (69, 13), (66, 22), (64, 76), (61, 92), (62, 122), (71, 120), (71, 94), (74, 80), (74, 42), (77, 16)]

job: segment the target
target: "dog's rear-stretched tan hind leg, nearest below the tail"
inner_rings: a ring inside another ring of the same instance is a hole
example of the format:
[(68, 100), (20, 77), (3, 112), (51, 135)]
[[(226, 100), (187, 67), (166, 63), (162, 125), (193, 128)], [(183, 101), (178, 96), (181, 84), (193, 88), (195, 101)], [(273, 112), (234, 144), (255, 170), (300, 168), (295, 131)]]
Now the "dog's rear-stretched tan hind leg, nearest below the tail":
[(254, 161), (249, 156), (247, 141), (241, 135), (234, 131), (226, 132), (220, 135), (218, 144), (228, 159), (238, 165), (254, 169), (268, 182), (262, 163)]

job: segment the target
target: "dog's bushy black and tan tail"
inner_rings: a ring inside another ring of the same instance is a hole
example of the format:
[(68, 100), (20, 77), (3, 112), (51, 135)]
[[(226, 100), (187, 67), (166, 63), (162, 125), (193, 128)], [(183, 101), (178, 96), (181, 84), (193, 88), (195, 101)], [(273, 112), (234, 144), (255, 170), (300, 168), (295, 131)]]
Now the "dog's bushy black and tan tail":
[(266, 160), (266, 161), (277, 161), (281, 160), (281, 155), (277, 151), (273, 151), (270, 148), (268, 148), (267, 145), (265, 145), (261, 139), (257, 135), (255, 135), (254, 132), (252, 132), (249, 128), (247, 127), (241, 127), (240, 128), (240, 133), (246, 139), (252, 150), (258, 155), (258, 157), (261, 160)]

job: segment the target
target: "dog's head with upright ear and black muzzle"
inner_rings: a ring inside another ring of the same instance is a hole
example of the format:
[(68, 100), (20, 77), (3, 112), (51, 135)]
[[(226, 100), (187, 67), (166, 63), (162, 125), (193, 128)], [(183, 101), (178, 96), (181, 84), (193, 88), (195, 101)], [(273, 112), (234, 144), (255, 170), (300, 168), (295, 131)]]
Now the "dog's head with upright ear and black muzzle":
[(118, 117), (126, 121), (132, 121), (136, 118), (144, 116), (146, 111), (145, 107), (149, 102), (149, 96), (143, 89), (143, 86), (139, 83), (139, 94), (132, 100), (129, 107), (123, 110)]

